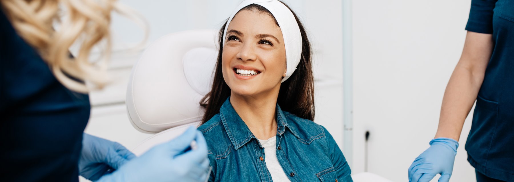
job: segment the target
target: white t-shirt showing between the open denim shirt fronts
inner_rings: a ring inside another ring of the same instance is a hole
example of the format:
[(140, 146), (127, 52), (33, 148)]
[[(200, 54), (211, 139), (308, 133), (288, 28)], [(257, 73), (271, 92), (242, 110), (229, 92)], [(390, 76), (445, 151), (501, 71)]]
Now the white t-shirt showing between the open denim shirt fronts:
[(275, 182), (291, 181), (277, 159), (277, 136), (273, 136), (268, 140), (259, 139), (259, 142), (264, 147), (266, 167), (268, 167), (268, 171), (271, 174), (271, 179)]

